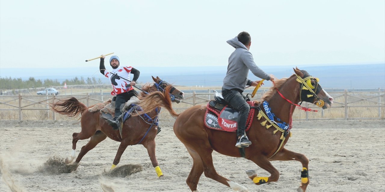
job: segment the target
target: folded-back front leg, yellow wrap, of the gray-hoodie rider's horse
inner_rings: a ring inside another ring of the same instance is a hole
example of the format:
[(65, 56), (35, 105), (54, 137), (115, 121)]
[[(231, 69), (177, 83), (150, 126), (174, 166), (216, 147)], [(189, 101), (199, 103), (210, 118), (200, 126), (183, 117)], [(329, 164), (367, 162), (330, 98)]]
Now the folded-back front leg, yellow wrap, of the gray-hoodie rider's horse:
[(275, 182), (280, 178), (280, 172), (270, 163), (269, 159), (264, 156), (253, 156), (250, 158), (255, 164), (270, 173), (269, 177), (258, 177), (254, 170), (247, 170), (249, 178), (253, 180), (256, 185)]

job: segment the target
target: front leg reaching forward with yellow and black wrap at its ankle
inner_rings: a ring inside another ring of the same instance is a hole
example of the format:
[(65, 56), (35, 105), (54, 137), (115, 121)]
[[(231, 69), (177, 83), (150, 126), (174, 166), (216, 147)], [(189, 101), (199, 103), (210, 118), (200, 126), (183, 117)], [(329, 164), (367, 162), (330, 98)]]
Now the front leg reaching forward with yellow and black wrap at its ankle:
[(300, 153), (296, 153), (293, 151), (289, 151), (285, 148), (283, 148), (280, 152), (275, 154), (274, 157), (271, 158), (271, 161), (299, 161), (302, 164), (302, 172), (301, 172), (301, 185), (298, 187), (297, 191), (299, 192), (305, 192), (306, 187), (309, 184), (309, 178), (308, 178), (308, 170), (309, 170), (309, 159)]

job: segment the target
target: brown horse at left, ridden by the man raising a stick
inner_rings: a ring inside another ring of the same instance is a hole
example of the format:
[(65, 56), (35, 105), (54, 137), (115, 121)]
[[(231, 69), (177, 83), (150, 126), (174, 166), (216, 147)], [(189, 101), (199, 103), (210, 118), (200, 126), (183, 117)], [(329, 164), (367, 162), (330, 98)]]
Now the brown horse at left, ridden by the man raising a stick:
[[(154, 78), (154, 84), (145, 84), (143, 86), (143, 91), (149, 92), (160, 92), (167, 95), (163, 97), (170, 97), (176, 103), (179, 103), (181, 99), (183, 99), (183, 92), (171, 86), (166, 81), (159, 79), (159, 77)], [(146, 93), (142, 92), (141, 98)], [(171, 101), (171, 100), (170, 100)], [(171, 104), (171, 103), (170, 103)], [(92, 108), (90, 106), (89, 108)], [(67, 116), (78, 116), (81, 114), (80, 123), (82, 127), (82, 131), (79, 133), (75, 132), (72, 134), (72, 152), (70, 157), (65, 159), (65, 163), (71, 163), (75, 158), (75, 149), (76, 143), (79, 140), (88, 139), (91, 137), (90, 141), (82, 147), (80, 150), (77, 159), (75, 160), (75, 164), (78, 165), (80, 160), (83, 158), (88, 151), (93, 149), (99, 142), (103, 141), (106, 137), (114, 141), (119, 141), (121, 144), (119, 145), (118, 151), (116, 153), (113, 165), (111, 169), (113, 169), (120, 161), (123, 152), (126, 150), (126, 147), (129, 145), (142, 144), (146, 147), (147, 152), (150, 156), (150, 160), (152, 166), (155, 167), (158, 177), (162, 176), (161, 169), (159, 168), (159, 164), (156, 160), (155, 156), (155, 137), (157, 135), (157, 121), (156, 116), (159, 113), (160, 108), (152, 111), (148, 111), (148, 116), (152, 118), (152, 122), (146, 122), (143, 118), (139, 116), (132, 116), (127, 119), (122, 126), (122, 134), (120, 134), (119, 130), (113, 130), (112, 127), (107, 124), (106, 119), (101, 117), (99, 112), (90, 112), (89, 108), (85, 106), (83, 103), (80, 103), (76, 98), (69, 98), (60, 100), (56, 103), (51, 104), (52, 110), (57, 113), (65, 114)]]

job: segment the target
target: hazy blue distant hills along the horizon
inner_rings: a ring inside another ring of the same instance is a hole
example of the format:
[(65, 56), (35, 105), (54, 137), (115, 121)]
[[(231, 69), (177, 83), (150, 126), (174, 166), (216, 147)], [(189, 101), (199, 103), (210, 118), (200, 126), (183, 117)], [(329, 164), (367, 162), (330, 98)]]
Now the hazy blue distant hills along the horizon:
[[(0, 76), (28, 79), (65, 79), (83, 76), (100, 78), (102, 82), (109, 83), (98, 71), (99, 66), (81, 68), (2, 68)], [(266, 73), (274, 74), (277, 78), (289, 77), (293, 74), (295, 66), (261, 66)], [(107, 66), (107, 69), (109, 66)], [(152, 76), (159, 76), (169, 83), (185, 86), (221, 86), (226, 75), (227, 66), (207, 67), (140, 67), (139, 82), (152, 82)], [(325, 89), (376, 89), (385, 88), (385, 63), (366, 65), (330, 65), (330, 66), (298, 66), (314, 77), (320, 79), (320, 84)], [(250, 72), (249, 79), (257, 80)], [(270, 86), (269, 82), (265, 86)]]

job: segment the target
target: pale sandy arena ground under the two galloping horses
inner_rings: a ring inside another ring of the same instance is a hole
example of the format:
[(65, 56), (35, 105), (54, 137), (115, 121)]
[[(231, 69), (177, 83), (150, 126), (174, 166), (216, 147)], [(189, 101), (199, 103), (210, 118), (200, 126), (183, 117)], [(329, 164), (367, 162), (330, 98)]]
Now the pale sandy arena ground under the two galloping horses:
[[(74, 172), (47, 171), (50, 159), (70, 155), (72, 133), (79, 132), (73, 121), (0, 121), (0, 192), (9, 191), (115, 191), (183, 192), (190, 191), (185, 180), (192, 166), (186, 148), (176, 138), (172, 126), (164, 124), (156, 137), (157, 159), (164, 173), (158, 179), (146, 149), (129, 146), (119, 167), (137, 165), (132, 175), (111, 175), (110, 166), (119, 142), (107, 138), (84, 156)], [(294, 122), (293, 136), (286, 148), (305, 154), (309, 160), (308, 192), (385, 191), (385, 120), (300, 121)], [(79, 141), (80, 147), (88, 139)], [(219, 174), (243, 185), (251, 192), (296, 191), (301, 164), (297, 161), (272, 162), (280, 171), (278, 182), (254, 185), (245, 170), (255, 169), (259, 176), (268, 172), (243, 158), (213, 152)], [(58, 169), (57, 167), (52, 167)], [(229, 187), (201, 176), (201, 192), (227, 192)]]

